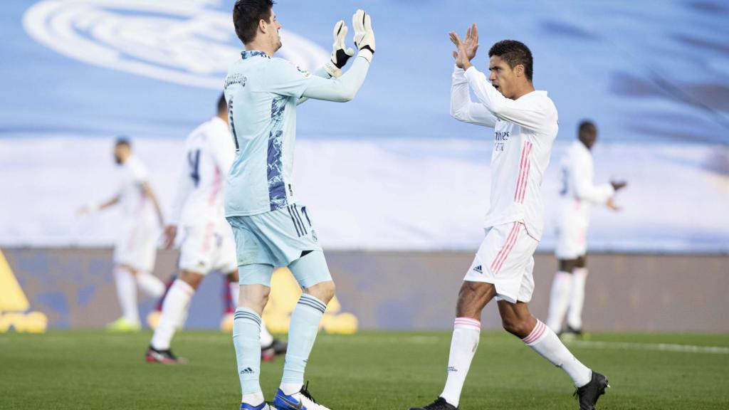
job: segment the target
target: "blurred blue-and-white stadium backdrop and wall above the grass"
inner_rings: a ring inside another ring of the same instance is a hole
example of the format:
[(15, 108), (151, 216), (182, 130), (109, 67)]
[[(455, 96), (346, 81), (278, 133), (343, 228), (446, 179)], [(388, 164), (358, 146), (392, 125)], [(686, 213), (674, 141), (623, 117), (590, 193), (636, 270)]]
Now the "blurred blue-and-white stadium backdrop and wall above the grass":
[[(119, 135), (133, 139), (171, 205), (182, 142), (214, 114), (240, 49), (232, 4), (3, 4), (0, 330), (93, 328), (118, 317), (115, 211), (79, 219), (75, 210), (114, 193)], [(534, 52), (535, 85), (559, 110), (534, 312), (545, 316), (556, 268), (555, 164), (590, 118), (599, 126), (596, 181), (630, 185), (617, 197), (622, 212), (593, 212), (585, 328), (729, 332), (725, 1), (279, 1), (281, 55), (316, 69), (332, 23), (356, 7), (374, 16), (375, 63), (356, 100), (300, 109), (295, 166), (341, 312), (362, 329), (451, 327), (482, 237), (490, 136), (448, 115), (447, 33), (476, 22), (477, 66), (492, 42), (520, 39)], [(176, 252), (160, 251), (155, 274), (168, 277), (175, 263)], [(221, 281), (212, 276), (195, 296), (190, 328), (219, 325)], [(487, 310), (485, 325), (499, 328)]]

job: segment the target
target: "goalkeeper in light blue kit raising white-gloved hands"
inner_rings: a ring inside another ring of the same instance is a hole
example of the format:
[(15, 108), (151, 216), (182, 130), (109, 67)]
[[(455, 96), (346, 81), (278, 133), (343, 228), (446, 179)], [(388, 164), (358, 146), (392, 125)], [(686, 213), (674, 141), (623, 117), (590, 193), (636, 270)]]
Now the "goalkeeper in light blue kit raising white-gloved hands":
[(273, 1), (238, 0), (233, 7), (235, 34), (246, 50), (225, 79), (230, 133), (237, 156), (225, 188), (225, 216), (238, 252), (241, 297), (235, 310), (233, 344), (241, 381), (241, 409), (268, 409), (260, 387), (261, 314), (268, 302), (276, 266), (288, 266), (303, 294), (291, 315), (284, 376), (274, 398), (278, 410), (326, 409), (303, 385), (304, 369), (319, 322), (334, 297), (324, 252), (311, 215), (297, 203), (292, 186), (296, 106), (306, 98), (349, 101), (362, 86), (375, 52), (370, 16), (357, 10), (354, 42), (359, 54), (342, 74), (354, 50), (346, 49), (347, 28), (334, 28), (332, 58), (312, 76), (292, 63), (273, 58), (281, 48), (281, 24)]

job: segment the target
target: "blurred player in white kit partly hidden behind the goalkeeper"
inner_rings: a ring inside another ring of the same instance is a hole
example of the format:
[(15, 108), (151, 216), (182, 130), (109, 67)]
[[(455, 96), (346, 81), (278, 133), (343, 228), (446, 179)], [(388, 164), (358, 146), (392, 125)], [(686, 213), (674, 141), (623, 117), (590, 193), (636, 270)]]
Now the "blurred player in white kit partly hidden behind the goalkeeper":
[[(175, 331), (187, 319), (190, 299), (208, 272), (220, 271), (227, 275), (233, 297), (238, 298), (238, 263), (235, 241), (223, 211), (223, 181), (235, 148), (227, 125), (228, 110), (225, 96), (220, 96), (217, 115), (201, 124), (187, 136), (183, 171), (169, 225), (165, 227), (165, 247), (174, 244), (178, 226), (184, 237), (180, 249), (179, 275), (165, 295), (160, 321), (147, 349), (147, 362), (185, 363), (170, 350)], [(261, 325), (263, 351), (286, 351), (286, 345), (273, 339), (265, 325)]]

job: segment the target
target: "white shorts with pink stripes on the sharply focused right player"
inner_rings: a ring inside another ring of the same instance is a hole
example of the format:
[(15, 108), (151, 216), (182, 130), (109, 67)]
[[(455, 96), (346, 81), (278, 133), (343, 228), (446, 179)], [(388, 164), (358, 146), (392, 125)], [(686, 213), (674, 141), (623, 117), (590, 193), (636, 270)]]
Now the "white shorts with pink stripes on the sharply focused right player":
[(481, 242), (464, 281), (493, 284), (497, 301), (531, 301), (537, 244), (539, 241), (526, 233), (521, 222), (487, 228), (486, 238)]

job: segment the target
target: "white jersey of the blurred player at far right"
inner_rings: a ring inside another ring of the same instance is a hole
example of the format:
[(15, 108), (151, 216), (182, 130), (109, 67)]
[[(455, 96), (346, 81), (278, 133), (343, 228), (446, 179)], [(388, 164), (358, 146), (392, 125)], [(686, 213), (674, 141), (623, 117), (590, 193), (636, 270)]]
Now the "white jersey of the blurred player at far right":
[(580, 141), (569, 146), (561, 160), (560, 171), (562, 185), (558, 225), (575, 223), (584, 231), (590, 220), (591, 206), (605, 204), (615, 195), (615, 190), (609, 183), (593, 185), (592, 154)]

